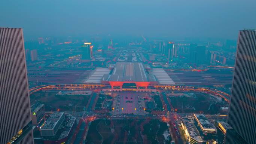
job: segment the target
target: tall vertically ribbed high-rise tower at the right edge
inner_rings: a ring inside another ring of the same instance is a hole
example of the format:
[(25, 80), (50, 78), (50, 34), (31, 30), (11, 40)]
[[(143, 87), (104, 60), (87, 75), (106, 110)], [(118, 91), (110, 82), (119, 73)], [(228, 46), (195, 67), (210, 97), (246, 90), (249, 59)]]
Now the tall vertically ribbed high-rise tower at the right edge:
[[(227, 122), (247, 143), (256, 143), (256, 29), (239, 31)], [(231, 139), (227, 133), (226, 144)]]

